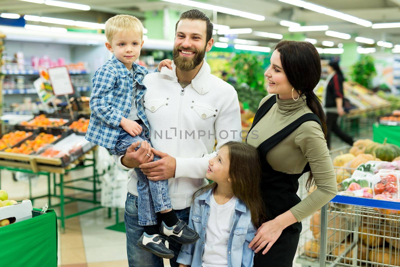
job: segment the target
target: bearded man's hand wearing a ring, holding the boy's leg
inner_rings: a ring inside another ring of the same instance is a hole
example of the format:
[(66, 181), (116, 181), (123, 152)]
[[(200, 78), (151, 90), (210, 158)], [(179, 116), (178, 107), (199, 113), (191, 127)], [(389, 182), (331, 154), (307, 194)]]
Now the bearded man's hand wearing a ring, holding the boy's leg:
[[(154, 159), (154, 154), (152, 153), (152, 147), (145, 140), (142, 141), (139, 149), (136, 151), (136, 147), (140, 145), (140, 141), (133, 143), (128, 147), (124, 157), (121, 158), (122, 165), (128, 168), (138, 168), (140, 164), (152, 162)], [(150, 155), (150, 157), (148, 156)]]

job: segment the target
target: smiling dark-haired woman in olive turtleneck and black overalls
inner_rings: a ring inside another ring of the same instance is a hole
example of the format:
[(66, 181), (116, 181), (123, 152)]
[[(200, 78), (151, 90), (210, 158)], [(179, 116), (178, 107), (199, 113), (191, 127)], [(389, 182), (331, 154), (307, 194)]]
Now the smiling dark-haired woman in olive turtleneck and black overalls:
[[(249, 247), (254, 266), (292, 266), (301, 221), (337, 193), (332, 160), (326, 147), (325, 115), (313, 89), (321, 75), (317, 50), (309, 42), (281, 41), (265, 72), (268, 92), (260, 103), (247, 143), (260, 153), (261, 191), (268, 221), (258, 228)], [(310, 172), (300, 201), (298, 179)]]

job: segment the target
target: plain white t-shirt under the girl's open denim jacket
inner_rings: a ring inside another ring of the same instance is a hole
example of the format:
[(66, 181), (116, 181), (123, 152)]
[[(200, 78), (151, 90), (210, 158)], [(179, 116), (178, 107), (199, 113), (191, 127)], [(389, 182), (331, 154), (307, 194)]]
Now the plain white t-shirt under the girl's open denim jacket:
[(234, 196), (224, 205), (218, 205), (214, 199), (214, 190), (211, 192), (202, 267), (228, 266), (228, 239), (236, 199)]

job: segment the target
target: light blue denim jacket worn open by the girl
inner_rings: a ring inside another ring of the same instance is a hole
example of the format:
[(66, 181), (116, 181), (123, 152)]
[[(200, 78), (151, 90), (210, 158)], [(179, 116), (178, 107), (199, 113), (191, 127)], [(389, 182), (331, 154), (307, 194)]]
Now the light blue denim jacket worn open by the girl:
[[(192, 267), (202, 266), (211, 191), (212, 189), (209, 189), (196, 197), (190, 207), (189, 227), (200, 235), (200, 239), (194, 244), (182, 245), (177, 259), (178, 263)], [(249, 249), (248, 245), (254, 238), (255, 232), (256, 228), (251, 222), (250, 209), (243, 201), (237, 199), (226, 248), (228, 267), (253, 267), (254, 251)]]

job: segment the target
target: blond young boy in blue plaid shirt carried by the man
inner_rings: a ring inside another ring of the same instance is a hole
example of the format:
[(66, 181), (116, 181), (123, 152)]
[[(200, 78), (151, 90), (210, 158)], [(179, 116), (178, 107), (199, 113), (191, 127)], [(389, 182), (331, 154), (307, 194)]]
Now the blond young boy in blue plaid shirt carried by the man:
[[(92, 114), (86, 140), (105, 147), (112, 155), (124, 155), (132, 143), (149, 138), (149, 131), (145, 131), (149, 130), (149, 123), (142, 99), (146, 93), (142, 80), (148, 70), (135, 63), (144, 42), (143, 25), (134, 16), (117, 15), (107, 20), (105, 34), (106, 47), (114, 55), (93, 76)], [(160, 71), (162, 66), (172, 69), (171, 63), (171, 60), (163, 60), (154, 71)], [(154, 160), (158, 159), (158, 156), (154, 157)], [(159, 235), (156, 213), (160, 213), (162, 223), (171, 230), (168, 236), (179, 243), (196, 242), (198, 233), (184, 225), (172, 210), (168, 180), (150, 181), (140, 169), (135, 171), (139, 225), (144, 226), (138, 245), (170, 259), (174, 252), (165, 247), (165, 237)]]

